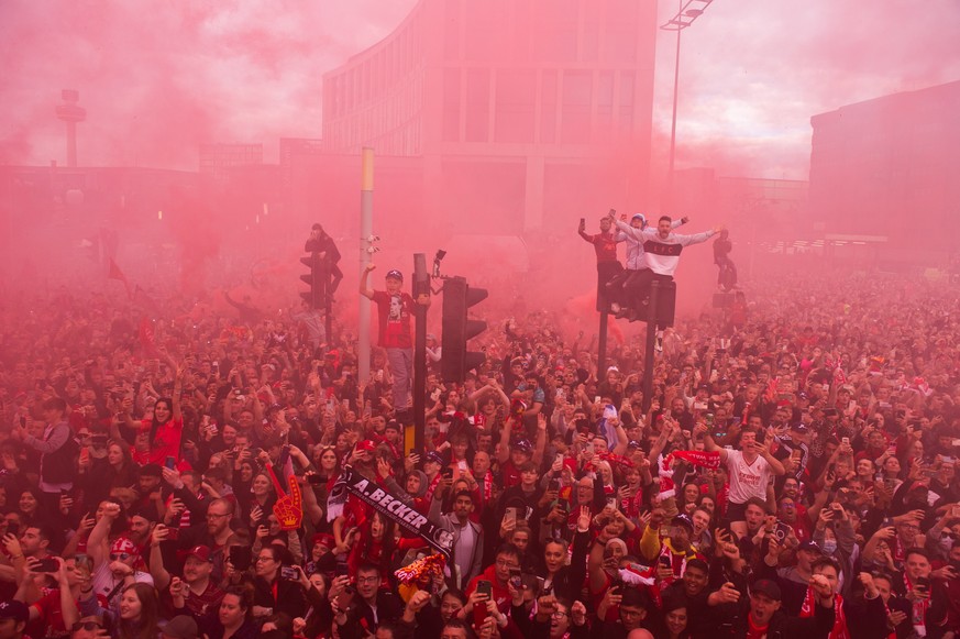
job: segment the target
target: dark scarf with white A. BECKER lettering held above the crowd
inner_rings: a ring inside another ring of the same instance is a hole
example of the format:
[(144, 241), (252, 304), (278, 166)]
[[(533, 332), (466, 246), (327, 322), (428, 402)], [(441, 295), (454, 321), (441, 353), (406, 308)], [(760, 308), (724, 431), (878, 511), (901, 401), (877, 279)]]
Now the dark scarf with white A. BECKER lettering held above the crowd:
[(363, 475), (353, 472), (353, 469), (350, 466), (343, 469), (343, 472), (330, 491), (328, 510), (335, 510), (334, 504), (336, 504), (342, 511), (343, 503), (346, 500), (344, 491), (349, 491), (384, 517), (396, 521), (398, 526), (417, 535), (420, 539), (435, 548), (443, 555), (443, 559), (450, 561), (450, 553), (453, 550), (453, 532), (440, 528), (427, 519), (424, 515), (404, 504), (401, 499), (391, 495), (376, 482), (372, 482)]

